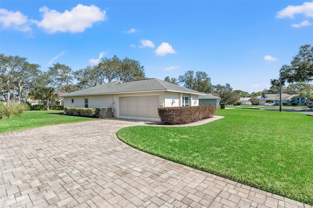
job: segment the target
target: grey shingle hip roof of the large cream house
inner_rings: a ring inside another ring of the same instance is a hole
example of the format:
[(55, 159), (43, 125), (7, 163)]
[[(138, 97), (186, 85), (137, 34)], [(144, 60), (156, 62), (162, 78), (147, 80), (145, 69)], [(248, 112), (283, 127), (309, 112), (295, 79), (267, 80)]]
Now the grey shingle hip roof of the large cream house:
[(94, 87), (78, 90), (75, 92), (70, 92), (68, 94), (62, 95), (62, 97), (149, 92), (149, 91), (171, 91), (204, 95), (204, 93), (154, 78), (132, 82), (114, 81), (111, 83), (105, 83)]

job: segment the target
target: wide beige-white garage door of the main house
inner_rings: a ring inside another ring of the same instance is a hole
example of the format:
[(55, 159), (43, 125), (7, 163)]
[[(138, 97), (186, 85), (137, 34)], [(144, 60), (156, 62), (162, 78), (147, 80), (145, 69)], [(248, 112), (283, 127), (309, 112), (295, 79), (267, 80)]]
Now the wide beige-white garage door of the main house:
[(158, 95), (119, 97), (119, 118), (160, 121)]

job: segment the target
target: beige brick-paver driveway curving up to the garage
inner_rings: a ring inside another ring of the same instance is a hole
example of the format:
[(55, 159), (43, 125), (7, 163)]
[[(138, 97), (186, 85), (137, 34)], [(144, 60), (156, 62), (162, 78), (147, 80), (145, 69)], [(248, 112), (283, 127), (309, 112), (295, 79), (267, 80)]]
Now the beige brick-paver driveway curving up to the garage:
[(152, 123), (98, 120), (0, 134), (0, 207), (312, 208), (127, 146), (115, 132), (130, 125)]

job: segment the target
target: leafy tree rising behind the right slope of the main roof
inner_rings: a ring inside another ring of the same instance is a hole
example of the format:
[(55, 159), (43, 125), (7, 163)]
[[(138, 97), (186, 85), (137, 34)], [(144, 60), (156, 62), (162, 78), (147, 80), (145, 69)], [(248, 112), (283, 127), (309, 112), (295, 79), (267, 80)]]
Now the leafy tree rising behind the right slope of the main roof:
[(204, 93), (212, 91), (211, 78), (205, 72), (197, 71), (196, 76), (194, 76), (194, 71), (189, 70), (184, 75), (180, 75), (178, 80), (179, 83), (189, 89)]

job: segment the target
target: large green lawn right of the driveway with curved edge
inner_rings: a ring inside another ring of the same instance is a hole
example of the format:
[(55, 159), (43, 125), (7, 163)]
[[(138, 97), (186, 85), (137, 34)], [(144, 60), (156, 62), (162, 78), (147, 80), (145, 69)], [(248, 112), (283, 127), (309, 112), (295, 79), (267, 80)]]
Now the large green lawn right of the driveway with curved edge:
[(132, 126), (120, 140), (142, 151), (313, 205), (313, 117), (252, 109), (201, 126)]

